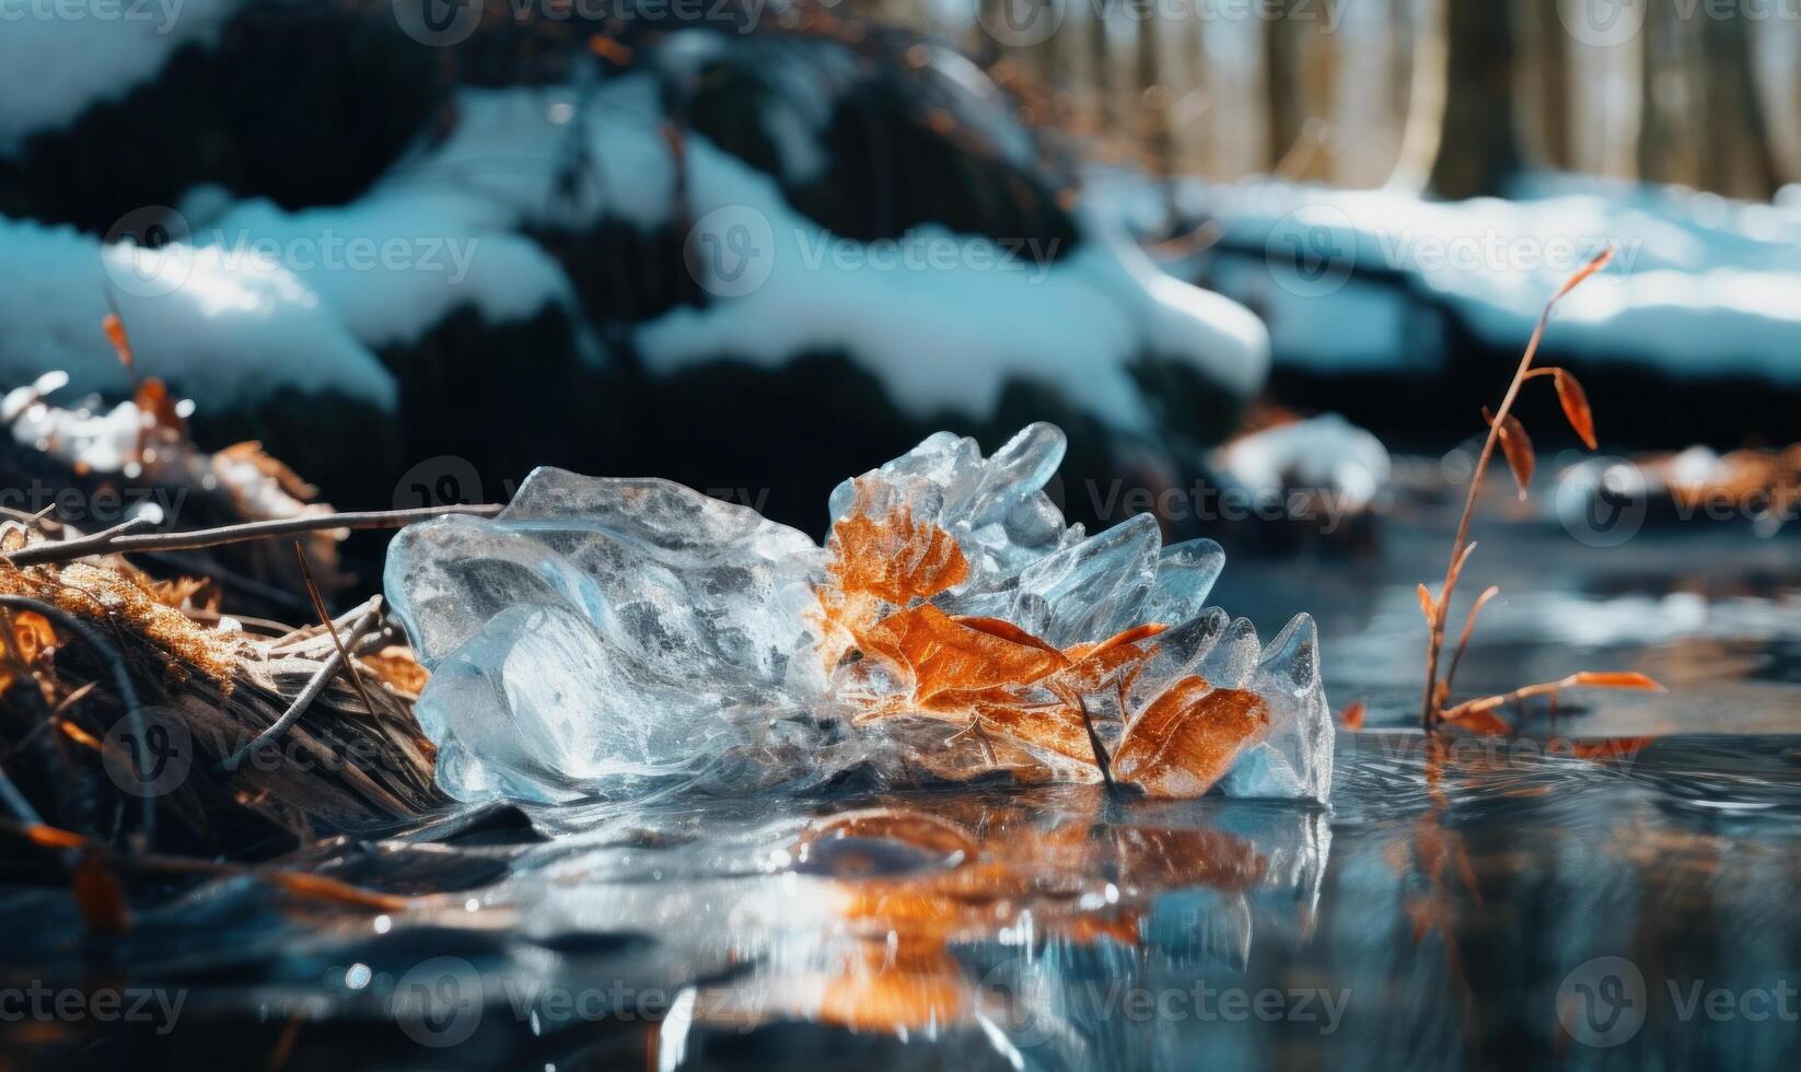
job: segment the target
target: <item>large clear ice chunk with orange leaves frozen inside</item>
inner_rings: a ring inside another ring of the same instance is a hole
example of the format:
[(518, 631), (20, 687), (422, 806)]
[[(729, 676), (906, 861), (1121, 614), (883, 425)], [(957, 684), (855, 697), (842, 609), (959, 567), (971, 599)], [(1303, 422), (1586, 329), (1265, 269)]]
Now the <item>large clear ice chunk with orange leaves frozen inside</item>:
[[(1088, 537), (1045, 495), (1064, 438), (938, 432), (830, 497), (832, 535), (659, 479), (533, 472), (493, 519), (393, 542), (385, 591), (459, 800), (1099, 780), (1324, 802), (1318, 634), (1207, 607), (1212, 541)], [(1088, 730), (1093, 730), (1090, 735)], [(1100, 757), (1095, 744), (1100, 744)]]

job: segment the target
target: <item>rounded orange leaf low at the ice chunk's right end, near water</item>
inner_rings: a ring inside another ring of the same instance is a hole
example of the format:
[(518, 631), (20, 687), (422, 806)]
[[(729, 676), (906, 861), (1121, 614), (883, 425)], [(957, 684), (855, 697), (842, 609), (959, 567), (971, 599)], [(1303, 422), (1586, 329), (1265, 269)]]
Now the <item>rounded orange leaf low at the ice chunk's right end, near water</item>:
[(1183, 677), (1120, 739), (1113, 777), (1151, 796), (1199, 796), (1270, 728), (1263, 697)]

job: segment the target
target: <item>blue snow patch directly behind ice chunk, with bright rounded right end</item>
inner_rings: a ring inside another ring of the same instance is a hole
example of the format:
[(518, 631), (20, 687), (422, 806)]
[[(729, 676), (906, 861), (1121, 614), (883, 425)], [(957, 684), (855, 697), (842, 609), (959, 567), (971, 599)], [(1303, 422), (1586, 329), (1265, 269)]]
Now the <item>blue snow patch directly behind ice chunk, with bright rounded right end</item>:
[[(1169, 279), (1099, 220), (1084, 220), (1082, 245), (1055, 261), (940, 227), (837, 240), (792, 211), (774, 180), (701, 137), (688, 142), (688, 184), (699, 249), (719, 250), (702, 286), (722, 301), (638, 332), (657, 371), (720, 355), (778, 368), (843, 350), (922, 418), (991, 413), (1019, 377), (1072, 387), (1102, 420), (1142, 429), (1151, 416), (1126, 371), (1140, 353), (1187, 359), (1239, 395), (1268, 369), (1268, 335), (1248, 310)], [(744, 290), (744, 274), (760, 281)]]

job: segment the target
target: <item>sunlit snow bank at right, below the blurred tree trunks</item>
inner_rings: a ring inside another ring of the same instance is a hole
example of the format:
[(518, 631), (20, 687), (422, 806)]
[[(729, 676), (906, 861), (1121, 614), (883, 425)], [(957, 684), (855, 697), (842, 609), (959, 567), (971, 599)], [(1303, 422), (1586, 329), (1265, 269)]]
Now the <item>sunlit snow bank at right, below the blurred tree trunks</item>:
[[(1111, 209), (1142, 220), (1124, 184)], [(1417, 369), (1443, 360), (1414, 330), (1455, 310), (1498, 350), (1522, 348), (1545, 299), (1605, 247), (1614, 265), (1556, 312), (1554, 346), (1677, 377), (1752, 373), (1801, 384), (1801, 213), (1713, 195), (1536, 177), (1518, 200), (1428, 202), (1394, 189), (1275, 180), (1185, 184), (1212, 214), (1207, 259), (1223, 292), (1264, 313), (1277, 359), (1318, 371)], [(1315, 258), (1311, 274), (1288, 254)]]

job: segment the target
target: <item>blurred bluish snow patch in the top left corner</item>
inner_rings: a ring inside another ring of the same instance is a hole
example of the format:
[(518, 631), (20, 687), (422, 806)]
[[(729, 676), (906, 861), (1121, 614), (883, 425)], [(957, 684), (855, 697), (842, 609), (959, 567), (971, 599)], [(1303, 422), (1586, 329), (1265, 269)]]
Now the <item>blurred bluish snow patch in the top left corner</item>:
[(151, 79), (243, 0), (86, 0), (0, 9), (0, 157)]

